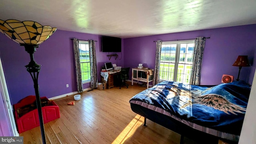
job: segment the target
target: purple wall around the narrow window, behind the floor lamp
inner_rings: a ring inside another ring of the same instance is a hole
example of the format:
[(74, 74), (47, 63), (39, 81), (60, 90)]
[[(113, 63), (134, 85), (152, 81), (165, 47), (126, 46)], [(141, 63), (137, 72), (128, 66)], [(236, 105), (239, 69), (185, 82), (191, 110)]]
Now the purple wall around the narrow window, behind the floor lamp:
[[(57, 30), (49, 39), (40, 44), (34, 54), (35, 61), (42, 65), (38, 78), (40, 96), (52, 98), (77, 91), (71, 38), (98, 41), (96, 42), (98, 80), (100, 80), (100, 70), (104, 62), (110, 61), (113, 64), (123, 66), (123, 45), (122, 52), (117, 53), (119, 58), (108, 60), (106, 56), (108, 53), (101, 52), (100, 36)], [(35, 95), (32, 78), (24, 67), (30, 61), (29, 54), (24, 50), (24, 47), (13, 42), (1, 33), (0, 57), (2, 59), (11, 103), (16, 104), (26, 96)], [(68, 88), (66, 88), (66, 84), (69, 84)], [(90, 83), (84, 84), (84, 88), (89, 87)]]

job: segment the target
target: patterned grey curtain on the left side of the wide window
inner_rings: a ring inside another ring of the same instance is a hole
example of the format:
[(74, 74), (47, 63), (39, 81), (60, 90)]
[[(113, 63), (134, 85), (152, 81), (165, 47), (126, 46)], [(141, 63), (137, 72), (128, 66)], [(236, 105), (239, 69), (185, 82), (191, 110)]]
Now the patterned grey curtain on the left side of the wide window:
[(161, 59), (162, 40), (156, 41), (156, 64), (154, 70), (153, 86), (159, 83), (160, 59)]

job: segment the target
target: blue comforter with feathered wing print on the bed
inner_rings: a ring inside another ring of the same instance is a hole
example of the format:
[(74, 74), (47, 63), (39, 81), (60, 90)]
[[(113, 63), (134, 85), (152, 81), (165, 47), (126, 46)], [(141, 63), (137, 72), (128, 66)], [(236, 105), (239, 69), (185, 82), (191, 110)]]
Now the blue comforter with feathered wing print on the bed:
[(250, 87), (244, 81), (213, 87), (165, 81), (131, 100), (154, 105), (201, 126), (240, 135), (249, 94)]

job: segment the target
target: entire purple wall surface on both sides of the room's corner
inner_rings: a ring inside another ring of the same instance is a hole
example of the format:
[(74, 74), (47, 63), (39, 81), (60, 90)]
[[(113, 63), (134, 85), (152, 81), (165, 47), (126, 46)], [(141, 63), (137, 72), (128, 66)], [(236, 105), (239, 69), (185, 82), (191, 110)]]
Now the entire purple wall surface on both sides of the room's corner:
[[(80, 40), (93, 39), (96, 42), (96, 60), (98, 80), (104, 62), (116, 63), (122, 67), (137, 67), (142, 63), (145, 67), (154, 68), (155, 40), (190, 39), (198, 36), (209, 37), (206, 40), (202, 65), (201, 84), (220, 84), (222, 74), (230, 74), (235, 78), (238, 67), (232, 66), (238, 55), (248, 55), (250, 61), (256, 56), (256, 24), (161, 34), (122, 40), (122, 53), (118, 52), (117, 60), (108, 60), (109, 53), (101, 52), (100, 36), (57, 30), (48, 40), (40, 44), (34, 54), (35, 61), (41, 64), (39, 89), (41, 96), (52, 98), (76, 91), (74, 71), (74, 54), (71, 38)], [(29, 62), (29, 55), (24, 47), (13, 42), (4, 34), (0, 34), (0, 57), (4, 68), (6, 83), (12, 104), (28, 95), (34, 95), (32, 78), (24, 67)], [(254, 62), (255, 63), (255, 62)], [(255, 65), (241, 70), (240, 80), (252, 84)], [(130, 70), (131, 77), (131, 70)], [(131, 78), (129, 78), (131, 79)], [(66, 88), (66, 84), (70, 87)], [(89, 83), (84, 88), (89, 88)]]

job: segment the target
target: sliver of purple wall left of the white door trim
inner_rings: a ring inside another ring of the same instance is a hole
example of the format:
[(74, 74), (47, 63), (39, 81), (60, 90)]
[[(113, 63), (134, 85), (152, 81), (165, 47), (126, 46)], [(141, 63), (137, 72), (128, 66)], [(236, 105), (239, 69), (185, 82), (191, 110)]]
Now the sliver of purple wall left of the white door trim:
[(7, 112), (4, 108), (4, 99), (0, 92), (0, 136), (12, 136), (10, 125), (7, 119)]

